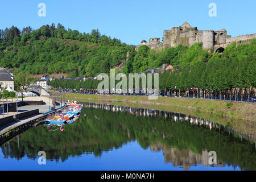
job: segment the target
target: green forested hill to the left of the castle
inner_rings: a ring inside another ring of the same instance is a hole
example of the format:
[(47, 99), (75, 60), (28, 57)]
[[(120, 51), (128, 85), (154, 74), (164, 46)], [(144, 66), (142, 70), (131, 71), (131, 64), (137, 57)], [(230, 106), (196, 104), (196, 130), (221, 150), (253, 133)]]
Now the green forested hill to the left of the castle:
[(0, 30), (0, 65), (31, 75), (67, 73), (69, 77), (94, 76), (126, 59), (133, 46), (101, 35), (66, 30), (55, 24), (32, 30), (17, 27)]

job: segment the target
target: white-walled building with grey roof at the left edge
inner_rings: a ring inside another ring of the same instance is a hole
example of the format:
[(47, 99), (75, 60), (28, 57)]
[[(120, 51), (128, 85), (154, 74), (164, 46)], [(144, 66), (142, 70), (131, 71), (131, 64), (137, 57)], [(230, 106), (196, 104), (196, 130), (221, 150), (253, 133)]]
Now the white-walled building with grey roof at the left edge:
[(14, 75), (5, 68), (0, 68), (0, 84), (1, 91), (8, 88), (8, 86), (14, 90)]

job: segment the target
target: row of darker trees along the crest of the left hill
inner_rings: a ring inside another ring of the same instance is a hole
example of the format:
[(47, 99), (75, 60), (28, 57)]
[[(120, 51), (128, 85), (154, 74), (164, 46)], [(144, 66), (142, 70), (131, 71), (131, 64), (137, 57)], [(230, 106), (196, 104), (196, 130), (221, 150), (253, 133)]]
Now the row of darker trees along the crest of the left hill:
[(22, 31), (17, 27), (5, 28), (5, 30), (0, 30), (0, 48), (6, 48), (6, 46), (11, 46), (13, 44), (17, 44), (20, 40), (23, 43), (26, 43), (27, 40), (39, 40), (40, 36), (44, 36), (46, 38), (59, 38), (59, 39), (71, 39), (71, 40), (79, 40), (81, 42), (88, 42), (99, 44), (101, 46), (126, 46), (125, 43), (122, 43), (118, 39), (112, 39), (106, 35), (101, 35), (100, 31), (92, 30), (89, 33), (80, 33), (77, 30), (68, 30), (65, 29), (63, 25), (60, 23), (57, 24), (57, 27), (54, 23), (51, 26), (44, 25), (37, 30), (33, 30), (30, 26), (24, 27)]

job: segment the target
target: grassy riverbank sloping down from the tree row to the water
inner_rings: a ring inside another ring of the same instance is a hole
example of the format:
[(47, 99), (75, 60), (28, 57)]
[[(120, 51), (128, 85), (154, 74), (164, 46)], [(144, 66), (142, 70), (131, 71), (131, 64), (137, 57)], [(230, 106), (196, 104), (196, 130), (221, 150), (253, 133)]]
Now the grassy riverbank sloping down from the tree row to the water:
[(256, 105), (241, 102), (175, 97), (158, 97), (157, 100), (148, 100), (148, 97), (143, 96), (101, 96), (87, 94), (67, 94), (66, 96), (67, 98), (76, 99), (77, 101), (118, 101), (159, 106), (179, 106), (210, 114), (247, 119), (256, 122)]

